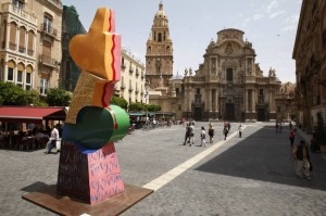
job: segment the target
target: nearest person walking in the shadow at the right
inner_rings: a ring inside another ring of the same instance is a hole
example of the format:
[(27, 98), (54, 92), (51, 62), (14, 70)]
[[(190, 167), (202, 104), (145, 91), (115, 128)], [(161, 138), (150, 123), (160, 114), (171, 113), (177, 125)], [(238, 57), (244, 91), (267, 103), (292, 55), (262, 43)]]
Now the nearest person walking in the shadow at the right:
[(292, 155), (296, 164), (296, 175), (298, 178), (311, 179), (310, 176), (310, 155), (304, 140), (300, 140), (300, 144), (292, 149)]

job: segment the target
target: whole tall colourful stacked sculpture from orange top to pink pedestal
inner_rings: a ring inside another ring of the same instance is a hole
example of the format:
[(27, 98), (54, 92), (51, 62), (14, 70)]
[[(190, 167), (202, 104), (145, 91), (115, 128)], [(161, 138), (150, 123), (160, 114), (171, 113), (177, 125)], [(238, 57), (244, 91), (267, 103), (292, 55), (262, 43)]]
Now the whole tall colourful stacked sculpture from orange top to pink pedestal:
[(63, 128), (57, 191), (89, 204), (124, 191), (114, 141), (127, 135), (129, 117), (110, 105), (121, 78), (121, 36), (114, 23), (113, 11), (98, 9), (89, 33), (70, 43), (83, 72)]

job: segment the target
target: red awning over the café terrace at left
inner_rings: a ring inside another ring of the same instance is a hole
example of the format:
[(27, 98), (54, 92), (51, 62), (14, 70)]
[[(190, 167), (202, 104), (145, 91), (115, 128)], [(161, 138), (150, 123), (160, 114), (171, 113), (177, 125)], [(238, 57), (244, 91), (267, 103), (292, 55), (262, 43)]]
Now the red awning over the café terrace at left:
[(64, 120), (65, 107), (0, 106), (0, 122)]

